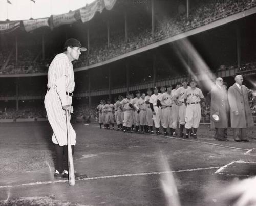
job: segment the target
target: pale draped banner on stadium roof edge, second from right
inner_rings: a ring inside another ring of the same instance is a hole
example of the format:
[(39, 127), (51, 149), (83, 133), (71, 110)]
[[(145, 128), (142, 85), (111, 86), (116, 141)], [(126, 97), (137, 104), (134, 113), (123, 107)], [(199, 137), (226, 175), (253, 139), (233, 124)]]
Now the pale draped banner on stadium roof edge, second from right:
[(81, 21), (87, 22), (90, 21), (96, 12), (102, 12), (104, 9), (103, 0), (95, 0), (94, 2), (87, 4), (85, 7), (80, 8), (80, 17)]

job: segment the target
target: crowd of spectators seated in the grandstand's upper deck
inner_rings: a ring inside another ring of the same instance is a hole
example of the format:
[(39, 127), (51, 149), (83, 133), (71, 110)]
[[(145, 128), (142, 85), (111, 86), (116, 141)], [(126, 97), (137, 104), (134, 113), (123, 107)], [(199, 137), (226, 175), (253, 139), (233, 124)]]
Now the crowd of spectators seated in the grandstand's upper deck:
[[(172, 37), (174, 35), (186, 32), (197, 27), (209, 24), (212, 21), (227, 17), (234, 13), (250, 9), (256, 5), (255, 0), (211, 0), (199, 1), (197, 5), (191, 8), (189, 17), (185, 13), (178, 13), (173, 17), (161, 17), (156, 21), (155, 33), (152, 36), (150, 25), (143, 24), (129, 30), (129, 39), (126, 42), (121, 31), (113, 31), (110, 44), (107, 45), (105, 38), (93, 37), (90, 43), (90, 54), (83, 54), (79, 61), (74, 62), (74, 68), (95, 64), (113, 57), (125, 54), (127, 52), (144, 47), (145, 45)], [(0, 51), (0, 62), (2, 65), (8, 61), (8, 64), (0, 69), (0, 74), (19, 74), (19, 73), (45, 73), (48, 70), (49, 62), (52, 57), (46, 55), (42, 60), (40, 49), (20, 48), (18, 62), (15, 62), (14, 49)], [(8, 55), (12, 53), (8, 60)], [(35, 56), (36, 54), (36, 56)]]

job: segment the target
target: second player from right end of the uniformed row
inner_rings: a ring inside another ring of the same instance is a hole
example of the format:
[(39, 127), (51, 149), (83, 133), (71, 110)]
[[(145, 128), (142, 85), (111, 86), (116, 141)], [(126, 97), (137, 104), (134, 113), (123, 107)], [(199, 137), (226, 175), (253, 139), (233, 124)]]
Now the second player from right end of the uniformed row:
[(179, 122), (180, 122), (180, 138), (183, 138), (183, 129), (185, 127), (185, 111), (186, 111), (186, 105), (184, 104), (184, 93), (187, 88), (190, 86), (187, 86), (187, 80), (184, 79), (182, 82), (182, 87), (178, 88), (176, 90), (175, 97), (178, 98), (179, 103)]

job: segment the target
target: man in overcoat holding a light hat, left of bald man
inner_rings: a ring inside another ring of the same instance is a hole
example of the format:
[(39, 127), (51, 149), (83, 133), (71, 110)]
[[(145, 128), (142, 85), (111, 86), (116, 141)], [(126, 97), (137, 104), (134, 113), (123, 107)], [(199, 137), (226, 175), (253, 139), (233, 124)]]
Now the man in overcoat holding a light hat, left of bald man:
[(228, 97), (227, 93), (223, 89), (223, 79), (218, 77), (215, 81), (215, 85), (210, 92), (210, 115), (218, 115), (220, 120), (215, 121), (211, 118), (211, 128), (216, 129), (216, 139), (220, 141), (228, 141), (225, 135), (225, 129), (228, 128)]

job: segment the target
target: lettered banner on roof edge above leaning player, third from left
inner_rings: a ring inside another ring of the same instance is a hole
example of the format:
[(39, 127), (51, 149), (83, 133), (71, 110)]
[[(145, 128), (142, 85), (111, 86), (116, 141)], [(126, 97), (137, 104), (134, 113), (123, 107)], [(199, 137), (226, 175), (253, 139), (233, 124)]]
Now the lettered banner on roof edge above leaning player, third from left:
[(76, 11), (70, 11), (69, 13), (66, 13), (66, 14), (53, 15), (52, 16), (53, 27), (58, 27), (60, 25), (73, 24), (76, 21), (75, 12)]

